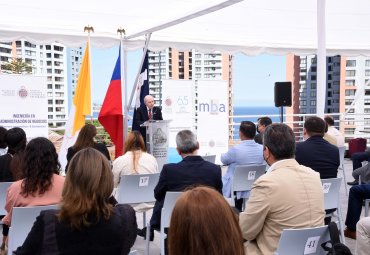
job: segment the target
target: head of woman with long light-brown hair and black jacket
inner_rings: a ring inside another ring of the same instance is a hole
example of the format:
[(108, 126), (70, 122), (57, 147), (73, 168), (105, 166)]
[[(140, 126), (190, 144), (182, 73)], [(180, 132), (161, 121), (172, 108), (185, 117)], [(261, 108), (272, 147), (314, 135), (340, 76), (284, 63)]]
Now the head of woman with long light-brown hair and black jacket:
[(69, 165), (59, 219), (73, 229), (88, 227), (100, 217), (108, 219), (112, 191), (113, 174), (107, 158), (93, 148), (80, 150)]

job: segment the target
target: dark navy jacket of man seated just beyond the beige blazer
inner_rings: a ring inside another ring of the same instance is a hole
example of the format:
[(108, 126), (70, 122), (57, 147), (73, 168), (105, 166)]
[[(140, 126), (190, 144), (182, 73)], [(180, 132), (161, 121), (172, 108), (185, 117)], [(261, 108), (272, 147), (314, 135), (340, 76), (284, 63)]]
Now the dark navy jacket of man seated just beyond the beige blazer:
[(301, 165), (320, 173), (321, 179), (336, 178), (339, 167), (339, 150), (320, 136), (312, 136), (298, 143), (295, 159)]

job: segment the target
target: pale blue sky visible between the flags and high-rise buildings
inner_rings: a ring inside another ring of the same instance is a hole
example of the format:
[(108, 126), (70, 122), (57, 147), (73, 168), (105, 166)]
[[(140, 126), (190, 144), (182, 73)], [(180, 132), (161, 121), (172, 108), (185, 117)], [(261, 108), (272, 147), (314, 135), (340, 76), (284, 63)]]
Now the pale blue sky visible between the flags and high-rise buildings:
[[(118, 57), (118, 47), (92, 48), (91, 82), (93, 102), (102, 103)], [(142, 50), (127, 54), (128, 99), (142, 58)], [(246, 56), (233, 60), (234, 106), (274, 106), (274, 84), (286, 80), (285, 56)], [(135, 100), (135, 98), (134, 98)]]

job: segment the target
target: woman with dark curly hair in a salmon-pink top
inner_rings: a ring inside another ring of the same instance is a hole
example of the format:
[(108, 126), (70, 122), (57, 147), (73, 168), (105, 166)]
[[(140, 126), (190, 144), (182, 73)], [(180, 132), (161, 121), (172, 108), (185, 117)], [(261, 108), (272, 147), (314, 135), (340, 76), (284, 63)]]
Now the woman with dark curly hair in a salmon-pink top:
[(58, 204), (62, 198), (64, 177), (54, 145), (44, 137), (32, 139), (23, 157), (24, 179), (8, 189), (3, 222), (10, 226), (13, 207)]

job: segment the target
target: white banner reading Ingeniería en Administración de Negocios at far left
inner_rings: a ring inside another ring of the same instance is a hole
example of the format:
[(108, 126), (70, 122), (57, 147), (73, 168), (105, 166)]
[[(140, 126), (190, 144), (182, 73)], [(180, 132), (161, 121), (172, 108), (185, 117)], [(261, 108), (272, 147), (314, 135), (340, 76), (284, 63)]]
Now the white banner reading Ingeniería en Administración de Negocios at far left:
[(0, 126), (22, 128), (28, 140), (48, 136), (45, 76), (0, 75)]

